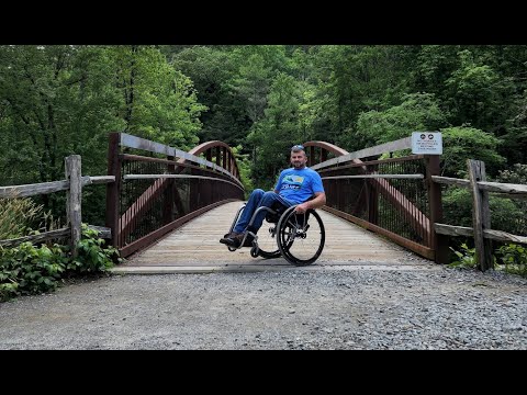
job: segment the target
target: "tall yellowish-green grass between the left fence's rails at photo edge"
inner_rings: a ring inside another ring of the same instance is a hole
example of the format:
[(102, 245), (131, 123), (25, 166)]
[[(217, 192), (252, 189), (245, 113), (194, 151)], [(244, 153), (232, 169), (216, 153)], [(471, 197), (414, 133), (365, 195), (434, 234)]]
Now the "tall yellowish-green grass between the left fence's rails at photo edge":
[(29, 198), (0, 199), (0, 239), (27, 236), (42, 208)]

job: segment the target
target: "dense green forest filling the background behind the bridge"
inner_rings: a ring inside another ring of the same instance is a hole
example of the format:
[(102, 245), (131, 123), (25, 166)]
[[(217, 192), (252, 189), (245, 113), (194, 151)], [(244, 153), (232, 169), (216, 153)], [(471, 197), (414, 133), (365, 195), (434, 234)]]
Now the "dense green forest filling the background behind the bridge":
[[(105, 174), (110, 132), (183, 150), (223, 140), (250, 189), (272, 185), (295, 143), (354, 151), (439, 131), (444, 176), (473, 158), (490, 179), (526, 183), (526, 88), (525, 45), (3, 45), (0, 185), (64, 179), (71, 154)], [(103, 225), (104, 193), (83, 191), (86, 222)], [(445, 194), (447, 215), (470, 221), (467, 193)], [(60, 217), (61, 199), (41, 203)], [(504, 224), (525, 215), (494, 204)]]

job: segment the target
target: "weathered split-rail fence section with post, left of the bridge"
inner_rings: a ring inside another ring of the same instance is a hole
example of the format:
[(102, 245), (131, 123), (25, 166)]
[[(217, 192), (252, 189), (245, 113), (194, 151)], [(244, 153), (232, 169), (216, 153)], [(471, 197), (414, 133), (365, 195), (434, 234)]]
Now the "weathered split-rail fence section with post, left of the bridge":
[[(82, 187), (99, 183), (115, 182), (114, 176), (81, 176), (80, 155), (71, 155), (65, 159), (66, 180), (41, 182), (26, 185), (0, 187), (0, 199), (26, 198), (38, 194), (47, 194), (58, 191), (68, 191), (66, 199), (67, 227), (44, 232), (40, 235), (20, 237), (15, 239), (0, 240), (0, 246), (18, 246), (24, 241), (40, 242), (54, 238), (69, 237), (71, 253), (77, 256), (77, 242), (81, 236), (81, 196)], [(111, 238), (111, 229), (101, 226), (89, 225), (98, 230), (103, 238)]]

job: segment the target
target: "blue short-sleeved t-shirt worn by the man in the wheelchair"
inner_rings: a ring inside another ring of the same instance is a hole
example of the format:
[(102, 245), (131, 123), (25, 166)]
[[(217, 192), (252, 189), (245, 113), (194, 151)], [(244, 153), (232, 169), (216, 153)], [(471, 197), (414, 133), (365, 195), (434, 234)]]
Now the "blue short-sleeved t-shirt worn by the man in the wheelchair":
[(310, 168), (282, 170), (274, 191), (292, 204), (307, 201), (315, 192), (324, 192), (321, 176)]

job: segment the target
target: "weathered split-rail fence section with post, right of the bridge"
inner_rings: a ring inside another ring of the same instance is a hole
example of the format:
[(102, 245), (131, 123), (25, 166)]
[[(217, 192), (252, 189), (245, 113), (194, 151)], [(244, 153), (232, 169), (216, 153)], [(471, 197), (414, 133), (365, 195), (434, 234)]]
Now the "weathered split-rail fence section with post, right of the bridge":
[(452, 226), (435, 223), (436, 233), (447, 236), (474, 237), (475, 259), (482, 271), (492, 269), (491, 239), (527, 244), (527, 237), (511, 235), (502, 230), (491, 229), (491, 212), (489, 192), (498, 193), (509, 199), (527, 199), (527, 185), (485, 181), (485, 163), (480, 160), (467, 160), (469, 180), (433, 176), (434, 182), (469, 188), (472, 194), (472, 227)]

